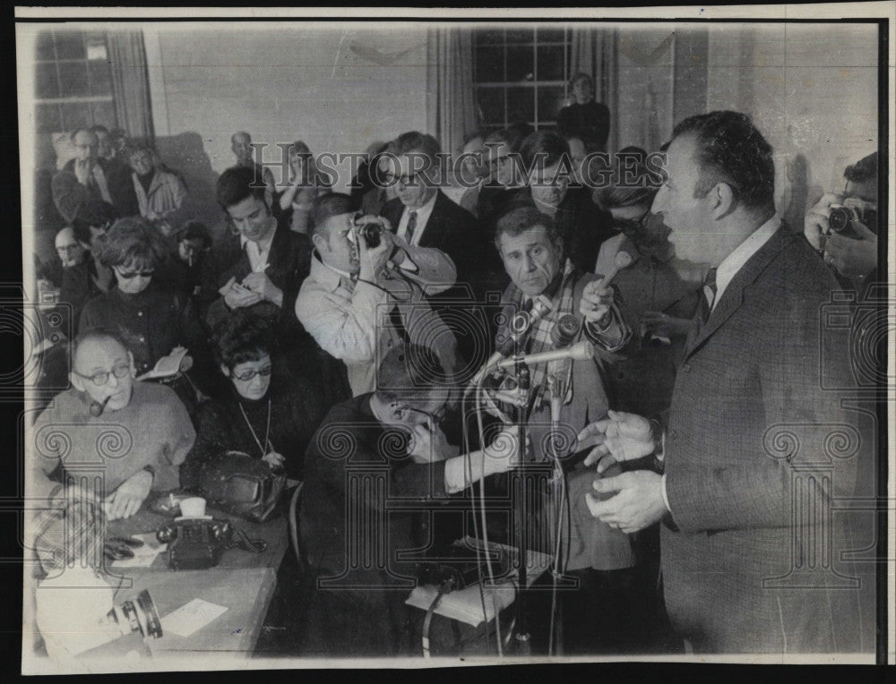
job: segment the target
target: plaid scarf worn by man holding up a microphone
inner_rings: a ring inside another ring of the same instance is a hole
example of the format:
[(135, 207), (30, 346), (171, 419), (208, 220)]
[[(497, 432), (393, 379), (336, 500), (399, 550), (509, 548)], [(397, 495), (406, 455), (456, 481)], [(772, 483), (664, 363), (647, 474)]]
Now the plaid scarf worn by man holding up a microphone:
[[(554, 329), (556, 321), (567, 313), (573, 313), (573, 292), (575, 284), (582, 276), (582, 272), (573, 266), (573, 262), (566, 260), (563, 276), (561, 278), (560, 287), (556, 294), (551, 297), (552, 304), (555, 304), (554, 311), (550, 312), (542, 318), (531, 330), (528, 342), (525, 344), (526, 354), (539, 354), (540, 352), (549, 352), (554, 348), (554, 342), (551, 340), (551, 330)], [(508, 292), (508, 301), (523, 303), (523, 295), (521, 290), (511, 285)], [(581, 333), (580, 333), (581, 335)], [(538, 411), (546, 402), (550, 402), (550, 389), (547, 386), (547, 363), (536, 363), (530, 366), (530, 414)], [(564, 404), (568, 404), (573, 398), (573, 364), (568, 363), (566, 367), (566, 378), (564, 382), (566, 394), (564, 395)]]

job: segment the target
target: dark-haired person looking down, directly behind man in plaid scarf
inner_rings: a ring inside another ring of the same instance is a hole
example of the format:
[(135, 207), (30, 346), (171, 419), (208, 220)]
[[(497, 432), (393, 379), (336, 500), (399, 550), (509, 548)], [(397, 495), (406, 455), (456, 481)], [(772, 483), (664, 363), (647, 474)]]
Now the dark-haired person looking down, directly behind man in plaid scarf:
[(617, 231), (587, 188), (570, 187), (575, 176), (569, 145), (556, 133), (539, 131), (522, 141), (520, 157), (529, 185), (515, 192), (507, 209), (529, 204), (553, 218), (573, 264), (593, 273), (600, 244)]

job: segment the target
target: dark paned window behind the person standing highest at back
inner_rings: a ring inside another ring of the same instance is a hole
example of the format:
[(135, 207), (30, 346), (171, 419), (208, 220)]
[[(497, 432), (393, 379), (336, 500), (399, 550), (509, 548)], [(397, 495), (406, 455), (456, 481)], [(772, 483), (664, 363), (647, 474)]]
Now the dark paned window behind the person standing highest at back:
[(479, 125), (524, 121), (553, 130), (567, 97), (570, 30), (566, 27), (473, 31), (473, 82)]

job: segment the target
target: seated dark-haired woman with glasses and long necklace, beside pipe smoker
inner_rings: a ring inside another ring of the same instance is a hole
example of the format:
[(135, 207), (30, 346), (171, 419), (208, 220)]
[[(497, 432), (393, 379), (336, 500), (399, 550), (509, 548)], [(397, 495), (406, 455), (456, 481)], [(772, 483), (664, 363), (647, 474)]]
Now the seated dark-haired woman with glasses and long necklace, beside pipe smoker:
[(196, 442), (181, 466), (185, 488), (196, 485), (203, 463), (231, 450), (302, 479), (308, 442), (328, 407), (307, 380), (275, 372), (274, 344), (267, 324), (252, 312), (234, 312), (215, 329), (215, 361), (230, 388), (199, 410)]

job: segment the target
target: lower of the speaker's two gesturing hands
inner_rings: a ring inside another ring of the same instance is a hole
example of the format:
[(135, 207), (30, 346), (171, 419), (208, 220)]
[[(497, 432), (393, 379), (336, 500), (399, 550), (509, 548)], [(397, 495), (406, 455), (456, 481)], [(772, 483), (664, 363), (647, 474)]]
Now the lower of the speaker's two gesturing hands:
[(585, 503), (592, 516), (625, 534), (651, 526), (666, 514), (662, 476), (650, 470), (634, 470), (595, 480), (591, 486), (599, 494), (617, 492), (607, 500), (600, 500), (603, 497), (591, 493), (585, 494)]

